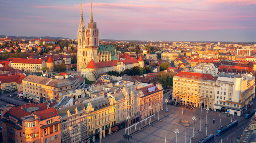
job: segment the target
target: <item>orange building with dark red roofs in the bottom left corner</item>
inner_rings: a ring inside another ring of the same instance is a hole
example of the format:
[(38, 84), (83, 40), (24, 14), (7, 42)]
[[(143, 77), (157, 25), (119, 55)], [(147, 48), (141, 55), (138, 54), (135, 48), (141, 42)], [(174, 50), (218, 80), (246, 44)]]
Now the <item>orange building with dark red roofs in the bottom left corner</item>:
[(61, 142), (60, 117), (54, 108), (40, 111), (38, 107), (8, 105), (0, 110), (4, 143)]

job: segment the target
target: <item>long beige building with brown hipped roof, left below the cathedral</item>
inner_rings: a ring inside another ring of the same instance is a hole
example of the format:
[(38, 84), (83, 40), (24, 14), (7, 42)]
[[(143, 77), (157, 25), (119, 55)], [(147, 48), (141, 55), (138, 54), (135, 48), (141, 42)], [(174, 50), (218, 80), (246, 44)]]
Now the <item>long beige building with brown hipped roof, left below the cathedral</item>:
[(22, 80), (23, 93), (27, 98), (43, 102), (55, 99), (59, 93), (81, 88), (80, 75), (69, 76), (66, 79), (52, 79), (36, 75), (28, 75)]

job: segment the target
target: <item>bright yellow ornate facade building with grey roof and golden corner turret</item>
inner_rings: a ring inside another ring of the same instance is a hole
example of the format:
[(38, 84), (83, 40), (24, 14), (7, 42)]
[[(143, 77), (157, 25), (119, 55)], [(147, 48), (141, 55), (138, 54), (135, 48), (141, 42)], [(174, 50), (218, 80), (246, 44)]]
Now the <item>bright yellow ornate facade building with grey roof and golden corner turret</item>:
[(88, 136), (93, 142), (95, 136), (102, 138), (118, 129), (116, 103), (114, 96), (85, 103)]

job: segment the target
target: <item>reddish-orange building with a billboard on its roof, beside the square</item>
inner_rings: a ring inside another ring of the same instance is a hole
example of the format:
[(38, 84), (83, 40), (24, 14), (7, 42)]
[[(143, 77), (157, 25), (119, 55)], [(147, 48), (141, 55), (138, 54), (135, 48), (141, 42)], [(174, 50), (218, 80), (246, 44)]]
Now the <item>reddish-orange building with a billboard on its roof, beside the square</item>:
[[(160, 109), (163, 103), (163, 87), (161, 84), (150, 85), (137, 89), (140, 94), (140, 114), (141, 119), (148, 117)], [(151, 107), (151, 110), (149, 110)]]

